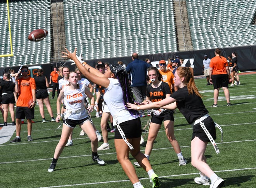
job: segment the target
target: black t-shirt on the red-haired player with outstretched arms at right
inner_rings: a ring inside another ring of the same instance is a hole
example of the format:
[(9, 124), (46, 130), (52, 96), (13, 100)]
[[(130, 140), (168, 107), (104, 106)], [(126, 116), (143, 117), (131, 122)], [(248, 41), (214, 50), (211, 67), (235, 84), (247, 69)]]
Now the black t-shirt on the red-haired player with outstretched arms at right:
[(192, 124), (195, 120), (208, 113), (202, 98), (195, 95), (195, 93), (189, 94), (187, 86), (175, 91), (170, 97), (177, 100), (177, 108), (184, 115), (189, 124)]

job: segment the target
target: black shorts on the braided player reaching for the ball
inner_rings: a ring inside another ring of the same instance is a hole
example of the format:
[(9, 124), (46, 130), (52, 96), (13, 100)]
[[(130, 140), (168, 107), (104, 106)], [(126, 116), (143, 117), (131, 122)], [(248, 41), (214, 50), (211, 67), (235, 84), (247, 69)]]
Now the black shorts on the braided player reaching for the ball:
[[(123, 132), (125, 133), (126, 139), (141, 137), (141, 122), (140, 118), (128, 120), (119, 124)], [(116, 128), (114, 139), (123, 139), (120, 132)]]

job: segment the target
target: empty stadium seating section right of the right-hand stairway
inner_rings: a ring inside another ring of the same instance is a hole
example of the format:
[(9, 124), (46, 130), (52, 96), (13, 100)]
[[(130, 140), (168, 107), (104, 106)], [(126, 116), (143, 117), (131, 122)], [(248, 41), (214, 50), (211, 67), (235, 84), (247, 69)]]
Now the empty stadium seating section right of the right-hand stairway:
[(255, 0), (187, 0), (193, 49), (256, 44)]

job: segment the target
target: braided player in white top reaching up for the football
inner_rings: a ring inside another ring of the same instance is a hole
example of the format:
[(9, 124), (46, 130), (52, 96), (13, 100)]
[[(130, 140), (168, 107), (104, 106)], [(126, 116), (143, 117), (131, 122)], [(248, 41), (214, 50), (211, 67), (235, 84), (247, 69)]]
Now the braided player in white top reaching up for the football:
[[(80, 62), (76, 57), (76, 49), (74, 50), (73, 53), (70, 53), (67, 49), (66, 51), (67, 51), (66, 53), (62, 52), (63, 54), (62, 57), (72, 59), (76, 63), (76, 66), (80, 69), (81, 73), (83, 73), (83, 75), (85, 75), (86, 78), (91, 80), (93, 83), (104, 86), (106, 88), (105, 94), (104, 94), (104, 100), (106, 101), (113, 118), (114, 116), (116, 117), (118, 124), (123, 120), (125, 120), (125, 122), (130, 122), (130, 121), (134, 122), (133, 120), (127, 121), (128, 119), (139, 120), (138, 112), (136, 110), (127, 110), (127, 108), (125, 107), (126, 102), (133, 103), (134, 101), (133, 101), (131, 88), (128, 83), (128, 74), (123, 66), (118, 64), (111, 64), (106, 69), (105, 74), (103, 75), (97, 69), (93, 68), (86, 62), (84, 61)], [(119, 82), (120, 79), (122, 80), (122, 82)], [(127, 90), (123, 91), (120, 83)], [(109, 95), (107, 93), (109, 93)], [(118, 93), (123, 97), (120, 97)], [(131, 125), (131, 127), (133, 127), (133, 125)], [(127, 128), (128, 126), (126, 125), (125, 131), (127, 131)], [(138, 130), (135, 130), (135, 131), (137, 132)], [(147, 171), (150, 177), (150, 180), (152, 181), (152, 187), (156, 188), (160, 186), (158, 176), (154, 173), (148, 159), (140, 151), (141, 127), (139, 131), (140, 131), (139, 137), (132, 137), (132, 138), (126, 139), (128, 143), (125, 142), (125, 138), (124, 139), (118, 138), (114, 140), (117, 158), (119, 163), (123, 167), (123, 170), (125, 171), (126, 175), (128, 176), (131, 183), (133, 184), (133, 187), (142, 188), (143, 186), (141, 185), (138, 179), (138, 176), (136, 175), (136, 171), (133, 164), (129, 160), (129, 153), (131, 153), (131, 155), (138, 161), (138, 163), (141, 164), (142, 168), (144, 168)], [(120, 132), (121, 134), (121, 130), (119, 130), (118, 128), (118, 131), (115, 132), (115, 137), (117, 132)], [(131, 147), (128, 146), (129, 144), (133, 146), (132, 150), (130, 150)]]

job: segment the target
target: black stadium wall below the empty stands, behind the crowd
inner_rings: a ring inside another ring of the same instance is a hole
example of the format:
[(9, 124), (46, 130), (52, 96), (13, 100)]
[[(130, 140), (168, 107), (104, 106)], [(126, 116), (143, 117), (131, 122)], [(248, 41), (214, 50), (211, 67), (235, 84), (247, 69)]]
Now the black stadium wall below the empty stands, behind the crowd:
[[(240, 46), (240, 47), (230, 47), (221, 49), (221, 56), (227, 58), (229, 54), (232, 52), (236, 52), (238, 54), (238, 66), (240, 71), (253, 71), (256, 70), (256, 45), (254, 46)], [(149, 58), (152, 62), (158, 62), (160, 60), (168, 60), (168, 58), (175, 58), (175, 56), (180, 56), (180, 58), (184, 59), (184, 63), (187, 67), (194, 68), (194, 75), (202, 75), (202, 61), (203, 55), (206, 54), (208, 58), (213, 58), (214, 49), (205, 49), (205, 50), (197, 50), (197, 51), (186, 51), (186, 52), (173, 52), (173, 53), (161, 53), (161, 54), (149, 54), (149, 55), (139, 55), (139, 59), (145, 60)], [(117, 63), (118, 61), (123, 61), (125, 66), (127, 66), (131, 62), (131, 56), (126, 57), (118, 57), (118, 58), (107, 58), (107, 59), (89, 59), (85, 60), (88, 64), (95, 67), (97, 61), (102, 61), (104, 63)], [(57, 63), (57, 67), (59, 66), (68, 66), (71, 70), (74, 70), (75, 65), (71, 65), (71, 61), (61, 61)], [(154, 64), (158, 68), (158, 63)], [(44, 75), (49, 80), (50, 73), (53, 70), (53, 67), (56, 66), (56, 63), (52, 64), (34, 64), (28, 65), (28, 67), (41, 66), (44, 70)], [(9, 69), (14, 69), (16, 72), (19, 70), (20, 66), (14, 67), (6, 67), (0, 68), (0, 76), (3, 76), (3, 73), (8, 72)], [(33, 73), (35, 73), (35, 69), (33, 69)]]

